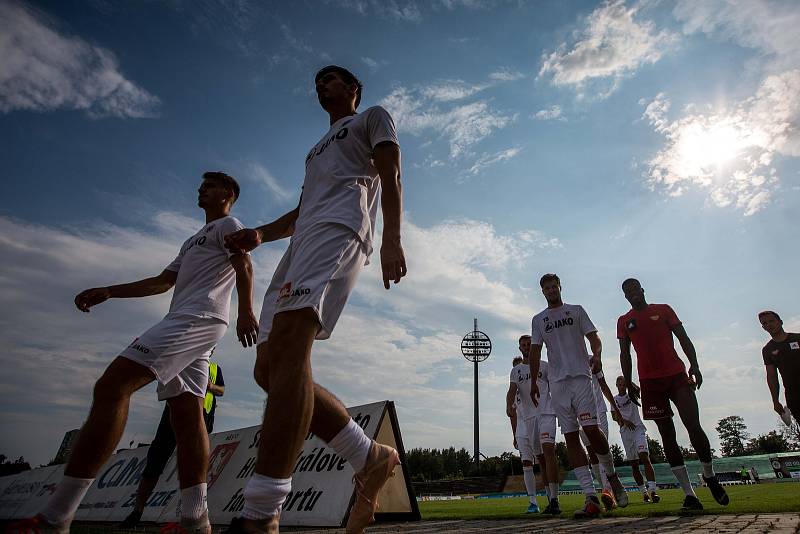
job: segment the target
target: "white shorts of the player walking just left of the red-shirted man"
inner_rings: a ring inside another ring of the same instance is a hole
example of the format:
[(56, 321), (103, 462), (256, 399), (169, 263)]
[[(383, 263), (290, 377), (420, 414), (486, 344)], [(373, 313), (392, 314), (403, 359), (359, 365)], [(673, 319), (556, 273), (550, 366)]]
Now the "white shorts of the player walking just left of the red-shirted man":
[(551, 382), (550, 398), (563, 434), (597, 424), (597, 404), (588, 376), (568, 376)]

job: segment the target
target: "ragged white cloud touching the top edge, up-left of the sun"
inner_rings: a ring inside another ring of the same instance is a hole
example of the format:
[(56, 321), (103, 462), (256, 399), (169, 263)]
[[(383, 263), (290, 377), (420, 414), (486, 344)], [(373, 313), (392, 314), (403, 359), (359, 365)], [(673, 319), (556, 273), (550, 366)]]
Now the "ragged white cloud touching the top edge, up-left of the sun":
[(638, 10), (623, 0), (605, 2), (587, 17), (574, 43), (562, 43), (543, 55), (539, 76), (551, 77), (555, 85), (574, 86), (581, 95), (587, 83), (610, 79), (598, 96), (610, 94), (622, 78), (661, 59), (674, 41), (666, 30), (657, 32), (653, 22), (635, 20)]

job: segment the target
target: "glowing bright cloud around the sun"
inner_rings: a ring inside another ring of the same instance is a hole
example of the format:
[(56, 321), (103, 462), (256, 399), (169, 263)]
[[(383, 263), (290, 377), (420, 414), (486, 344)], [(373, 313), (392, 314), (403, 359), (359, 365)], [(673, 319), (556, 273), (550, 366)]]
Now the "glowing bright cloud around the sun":
[(728, 109), (667, 118), (659, 94), (644, 112), (666, 145), (648, 162), (654, 188), (679, 196), (688, 187), (708, 190), (710, 201), (753, 215), (778, 186), (776, 155), (800, 156), (800, 70), (767, 77), (756, 94)]

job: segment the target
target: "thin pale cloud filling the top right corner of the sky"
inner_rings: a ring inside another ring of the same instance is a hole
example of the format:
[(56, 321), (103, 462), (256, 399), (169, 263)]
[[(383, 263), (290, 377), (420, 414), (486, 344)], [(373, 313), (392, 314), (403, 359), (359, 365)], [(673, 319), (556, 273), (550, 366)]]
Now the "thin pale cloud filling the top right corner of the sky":
[(800, 61), (800, 5), (769, 0), (680, 0), (673, 10), (687, 34), (703, 32), (759, 50), (773, 72)]

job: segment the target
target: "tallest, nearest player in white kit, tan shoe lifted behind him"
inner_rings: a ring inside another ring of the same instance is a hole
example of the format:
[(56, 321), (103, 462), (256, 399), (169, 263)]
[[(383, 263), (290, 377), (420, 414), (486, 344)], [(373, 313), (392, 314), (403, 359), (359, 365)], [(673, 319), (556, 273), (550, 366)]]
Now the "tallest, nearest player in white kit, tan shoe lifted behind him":
[(362, 85), (350, 71), (325, 67), (315, 84), (330, 128), (306, 156), (299, 206), (227, 239), (231, 250), (247, 251), (291, 236), (261, 309), (255, 377), (269, 400), (242, 517), (234, 519), (229, 533), (277, 532), (309, 429), (356, 472), (348, 533), (360, 533), (370, 523), (378, 491), (400, 462), (395, 449), (364, 434), (341, 401), (313, 381), (311, 372), (314, 340), (330, 336), (372, 253), (379, 198), (384, 287), (406, 274), (400, 244), (400, 146), (386, 110), (374, 106), (356, 112)]

